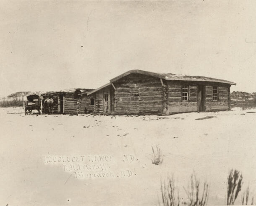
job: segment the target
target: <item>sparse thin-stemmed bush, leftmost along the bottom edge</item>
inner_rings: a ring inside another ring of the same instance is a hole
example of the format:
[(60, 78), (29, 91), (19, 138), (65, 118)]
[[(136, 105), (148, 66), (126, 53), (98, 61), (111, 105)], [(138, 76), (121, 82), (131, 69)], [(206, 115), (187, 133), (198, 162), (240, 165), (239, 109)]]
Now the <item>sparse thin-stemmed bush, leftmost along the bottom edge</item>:
[(161, 181), (162, 205), (163, 206), (179, 206), (179, 190), (175, 186), (173, 175), (168, 178), (167, 182)]

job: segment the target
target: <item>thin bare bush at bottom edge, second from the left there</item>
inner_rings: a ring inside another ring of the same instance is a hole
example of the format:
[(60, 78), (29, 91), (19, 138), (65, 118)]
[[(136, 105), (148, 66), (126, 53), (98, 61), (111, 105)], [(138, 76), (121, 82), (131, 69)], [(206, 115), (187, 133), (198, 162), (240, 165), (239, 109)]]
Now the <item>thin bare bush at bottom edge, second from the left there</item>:
[(195, 172), (191, 175), (191, 182), (188, 184), (188, 188), (185, 192), (188, 196), (188, 202), (186, 205), (189, 206), (204, 206), (207, 203), (209, 196), (209, 185), (204, 182), (204, 188), (200, 193), (200, 181), (196, 179)]

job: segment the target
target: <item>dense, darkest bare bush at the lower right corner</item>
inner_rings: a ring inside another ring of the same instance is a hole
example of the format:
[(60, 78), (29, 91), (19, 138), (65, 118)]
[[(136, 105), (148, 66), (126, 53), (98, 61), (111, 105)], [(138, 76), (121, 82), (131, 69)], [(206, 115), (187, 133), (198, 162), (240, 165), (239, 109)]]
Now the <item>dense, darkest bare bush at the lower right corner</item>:
[(243, 176), (238, 170), (231, 169), (227, 177), (227, 205), (234, 205), (242, 187)]

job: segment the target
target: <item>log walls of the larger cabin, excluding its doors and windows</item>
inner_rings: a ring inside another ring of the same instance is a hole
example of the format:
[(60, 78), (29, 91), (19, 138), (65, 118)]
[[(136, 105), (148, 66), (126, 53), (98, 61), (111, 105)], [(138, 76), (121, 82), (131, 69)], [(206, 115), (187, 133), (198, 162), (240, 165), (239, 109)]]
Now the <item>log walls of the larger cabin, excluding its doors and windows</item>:
[[(189, 85), (189, 99), (182, 100), (182, 85)], [(198, 111), (198, 85), (205, 85), (206, 111), (229, 110), (228, 84), (194, 81), (166, 81), (142, 74), (130, 74), (97, 91), (94, 113), (103, 113), (103, 94), (110, 94), (110, 108), (118, 115), (170, 115)], [(212, 86), (218, 86), (218, 101), (212, 100)], [(82, 105), (82, 103), (81, 103)]]

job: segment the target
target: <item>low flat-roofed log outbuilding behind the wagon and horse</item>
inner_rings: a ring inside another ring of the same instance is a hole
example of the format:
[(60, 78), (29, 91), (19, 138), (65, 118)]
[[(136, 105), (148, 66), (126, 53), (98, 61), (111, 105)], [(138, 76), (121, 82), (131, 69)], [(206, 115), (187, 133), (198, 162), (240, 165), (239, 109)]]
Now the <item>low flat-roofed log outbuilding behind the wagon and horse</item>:
[(52, 107), (52, 112), (55, 114), (71, 114), (77, 115), (84, 113), (85, 99), (81, 99), (82, 92), (93, 91), (93, 89), (65, 89), (62, 91), (52, 91), (42, 94), (43, 98), (51, 98), (55, 104)]

